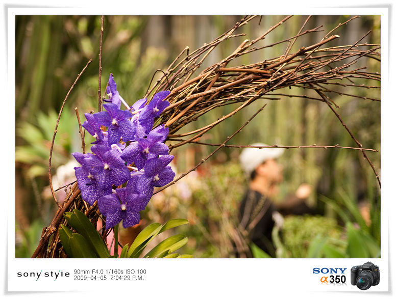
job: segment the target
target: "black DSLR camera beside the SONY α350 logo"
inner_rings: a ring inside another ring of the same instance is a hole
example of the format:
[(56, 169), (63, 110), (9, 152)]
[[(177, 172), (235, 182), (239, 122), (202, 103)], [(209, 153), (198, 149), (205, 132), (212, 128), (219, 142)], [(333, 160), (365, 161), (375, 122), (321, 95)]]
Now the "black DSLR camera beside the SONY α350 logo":
[(361, 290), (367, 290), (372, 285), (380, 283), (380, 268), (372, 262), (366, 262), (361, 266), (353, 266), (351, 269), (351, 284)]

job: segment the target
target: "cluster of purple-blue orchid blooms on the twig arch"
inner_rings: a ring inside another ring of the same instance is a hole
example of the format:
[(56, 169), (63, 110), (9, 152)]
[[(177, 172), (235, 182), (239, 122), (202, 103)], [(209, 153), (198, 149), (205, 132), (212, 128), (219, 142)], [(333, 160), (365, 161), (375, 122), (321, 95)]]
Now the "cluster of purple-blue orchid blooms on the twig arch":
[[(169, 129), (164, 125), (153, 129), (155, 118), (169, 105), (164, 99), (170, 92), (155, 94), (148, 104), (143, 98), (128, 106), (112, 74), (106, 91), (106, 111), (86, 113), (82, 125), (96, 139), (92, 153), (72, 155), (81, 164), (75, 171), (83, 200), (90, 205), (97, 201), (107, 228), (121, 220), (127, 228), (139, 223), (139, 211), (149, 203), (154, 187), (175, 177), (169, 166), (174, 156), (164, 144)], [(126, 110), (120, 108), (121, 103)]]

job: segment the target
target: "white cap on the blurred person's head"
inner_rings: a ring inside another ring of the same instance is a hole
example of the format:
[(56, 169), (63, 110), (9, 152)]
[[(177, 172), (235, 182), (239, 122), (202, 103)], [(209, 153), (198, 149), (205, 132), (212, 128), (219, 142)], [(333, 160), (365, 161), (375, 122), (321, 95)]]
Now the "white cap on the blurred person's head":
[[(254, 143), (252, 146), (268, 146), (264, 143)], [(257, 148), (257, 147), (246, 147), (242, 150), (239, 155), (239, 162), (243, 171), (250, 175), (260, 164), (268, 159), (279, 158), (283, 152), (284, 148)]]

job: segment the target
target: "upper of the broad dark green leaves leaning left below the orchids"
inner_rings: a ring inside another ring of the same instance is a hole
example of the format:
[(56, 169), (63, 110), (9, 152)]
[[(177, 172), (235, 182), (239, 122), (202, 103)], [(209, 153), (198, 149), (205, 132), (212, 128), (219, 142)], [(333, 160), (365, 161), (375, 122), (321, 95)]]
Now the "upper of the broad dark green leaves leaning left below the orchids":
[(87, 240), (88, 246), (98, 257), (108, 258), (110, 256), (105, 242), (83, 212), (74, 209), (73, 212), (66, 212), (64, 216), (70, 226)]

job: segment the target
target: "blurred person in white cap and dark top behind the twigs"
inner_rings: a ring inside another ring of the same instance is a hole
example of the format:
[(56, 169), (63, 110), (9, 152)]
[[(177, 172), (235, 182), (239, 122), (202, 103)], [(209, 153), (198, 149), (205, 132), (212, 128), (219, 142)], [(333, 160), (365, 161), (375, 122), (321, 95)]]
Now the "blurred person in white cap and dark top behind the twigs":
[[(267, 146), (255, 143), (252, 146)], [(282, 215), (313, 214), (305, 200), (312, 192), (312, 186), (302, 184), (294, 195), (275, 204), (271, 199), (279, 193), (279, 183), (283, 180), (282, 166), (277, 159), (283, 148), (245, 148), (240, 156), (240, 164), (250, 178), (248, 189), (240, 203), (239, 227), (247, 241), (253, 241), (271, 257), (276, 257), (272, 231)]]

